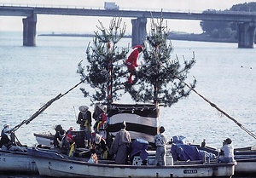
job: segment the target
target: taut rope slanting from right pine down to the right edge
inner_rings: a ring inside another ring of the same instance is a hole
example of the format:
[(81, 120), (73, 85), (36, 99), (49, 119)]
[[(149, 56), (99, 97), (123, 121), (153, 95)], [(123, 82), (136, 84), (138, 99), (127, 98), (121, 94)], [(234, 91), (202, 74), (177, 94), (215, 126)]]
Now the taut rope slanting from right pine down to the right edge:
[[(177, 78), (177, 77), (176, 77)], [(230, 118), (234, 123), (236, 123), (241, 129), (243, 129), (244, 131), (247, 132), (248, 135), (253, 136), (254, 139), (256, 139), (256, 135), (253, 134), (253, 132), (251, 132), (250, 130), (246, 129), (241, 123), (239, 123), (235, 118), (232, 118), (228, 113), (224, 112), (223, 110), (221, 110), (217, 105), (215, 105), (214, 103), (212, 103), (212, 101), (207, 100), (207, 98), (205, 98), (203, 95), (201, 95), (200, 93), (198, 93), (195, 89), (191, 88), (189, 86), (189, 84), (183, 82), (180, 78), (177, 78), (178, 80), (180, 80), (182, 83), (184, 83), (187, 87), (189, 87), (189, 89), (191, 89), (192, 91), (195, 92), (195, 94), (199, 95), (203, 100), (206, 100), (207, 103), (209, 103), (212, 107), (216, 108), (218, 110), (218, 112), (223, 113), (227, 118)]]

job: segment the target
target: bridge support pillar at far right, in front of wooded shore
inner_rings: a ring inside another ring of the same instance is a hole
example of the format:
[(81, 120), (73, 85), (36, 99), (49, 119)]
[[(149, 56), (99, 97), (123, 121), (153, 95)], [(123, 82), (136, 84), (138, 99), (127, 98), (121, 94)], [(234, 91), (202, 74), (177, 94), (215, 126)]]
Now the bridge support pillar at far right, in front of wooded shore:
[(253, 22), (238, 23), (238, 48), (253, 49), (255, 27)]

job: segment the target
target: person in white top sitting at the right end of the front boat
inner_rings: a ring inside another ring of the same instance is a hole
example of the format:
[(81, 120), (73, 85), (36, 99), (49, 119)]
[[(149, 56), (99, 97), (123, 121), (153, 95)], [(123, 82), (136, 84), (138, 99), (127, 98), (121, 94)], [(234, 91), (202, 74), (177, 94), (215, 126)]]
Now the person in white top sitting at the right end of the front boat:
[(223, 146), (221, 147), (221, 151), (224, 152), (224, 157), (219, 157), (218, 163), (230, 163), (235, 161), (234, 146), (230, 138), (224, 140)]

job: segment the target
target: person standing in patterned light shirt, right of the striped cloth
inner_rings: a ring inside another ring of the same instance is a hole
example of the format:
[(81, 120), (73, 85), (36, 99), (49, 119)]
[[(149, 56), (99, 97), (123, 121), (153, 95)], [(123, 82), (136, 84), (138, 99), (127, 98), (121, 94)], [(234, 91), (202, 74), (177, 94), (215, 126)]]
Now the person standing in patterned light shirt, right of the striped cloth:
[(159, 158), (162, 160), (162, 165), (166, 165), (166, 143), (167, 138), (163, 133), (166, 131), (166, 129), (161, 126), (160, 127), (160, 133), (158, 135), (154, 136), (154, 144), (156, 146), (155, 151), (155, 158), (154, 158), (154, 165), (158, 165)]

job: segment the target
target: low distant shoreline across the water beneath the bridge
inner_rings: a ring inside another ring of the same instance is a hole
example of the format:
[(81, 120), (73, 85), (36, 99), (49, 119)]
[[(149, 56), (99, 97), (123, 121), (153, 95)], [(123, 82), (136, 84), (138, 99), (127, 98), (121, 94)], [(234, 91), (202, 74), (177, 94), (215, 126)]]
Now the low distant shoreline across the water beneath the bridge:
[[(49, 37), (95, 37), (95, 34), (80, 34), (80, 33), (49, 33), (39, 34), (38, 36)], [(131, 35), (126, 35), (124, 38), (131, 38)], [(194, 33), (178, 33), (171, 32), (168, 39), (171, 40), (183, 40), (183, 41), (198, 41), (198, 42), (218, 42), (218, 43), (237, 43), (236, 39), (224, 39), (224, 38), (212, 38), (206, 34), (194, 34)]]

